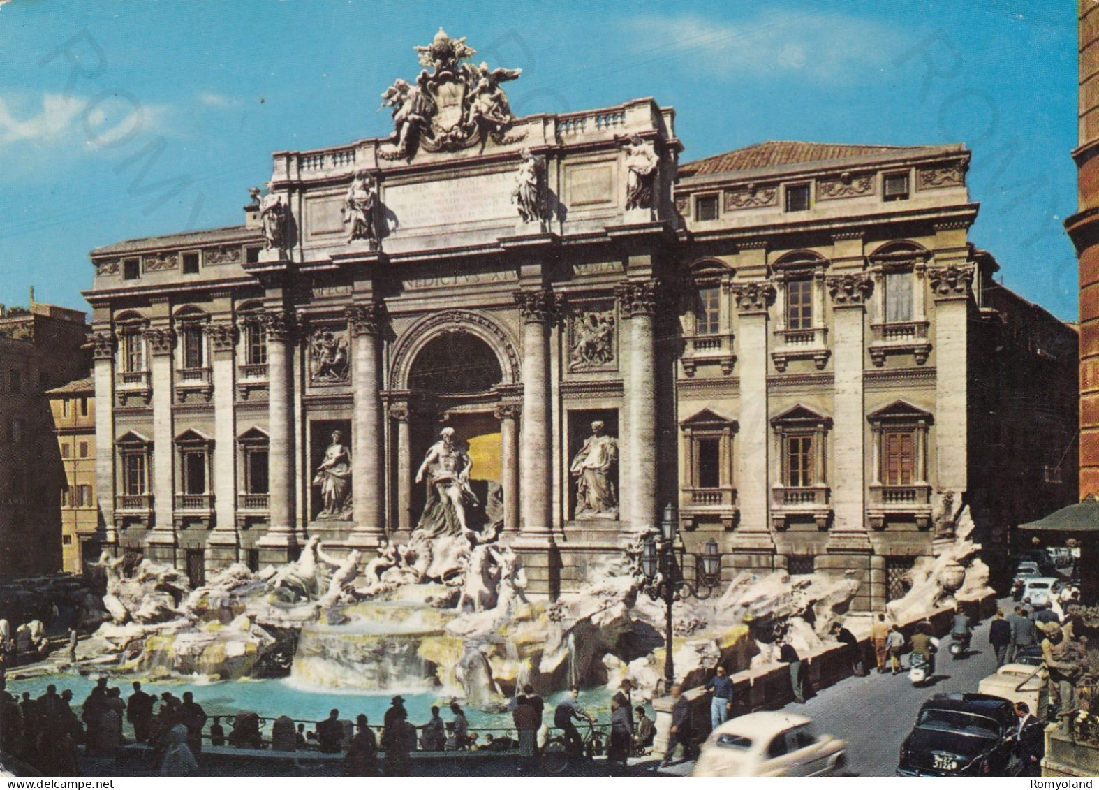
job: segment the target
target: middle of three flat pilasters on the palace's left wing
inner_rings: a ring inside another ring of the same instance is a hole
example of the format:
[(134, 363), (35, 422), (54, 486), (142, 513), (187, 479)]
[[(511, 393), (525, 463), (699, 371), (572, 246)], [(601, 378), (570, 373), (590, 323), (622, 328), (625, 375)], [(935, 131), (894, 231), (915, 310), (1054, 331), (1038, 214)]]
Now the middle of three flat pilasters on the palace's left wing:
[(175, 563), (175, 531), (171, 521), (175, 491), (173, 478), (171, 435), (171, 347), (175, 333), (168, 326), (145, 330), (145, 344), (152, 354), (153, 387), (153, 532), (149, 546), (159, 561)]

